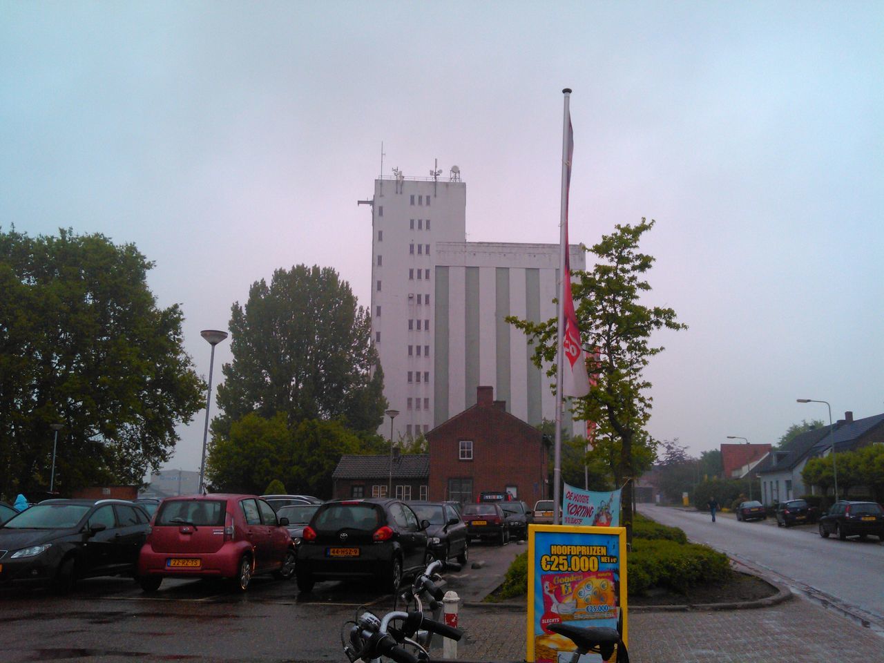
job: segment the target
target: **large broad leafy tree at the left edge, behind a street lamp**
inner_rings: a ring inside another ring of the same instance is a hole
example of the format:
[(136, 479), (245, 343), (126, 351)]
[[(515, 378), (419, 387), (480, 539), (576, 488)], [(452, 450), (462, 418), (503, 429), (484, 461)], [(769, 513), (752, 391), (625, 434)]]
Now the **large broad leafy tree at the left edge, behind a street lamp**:
[(168, 461), (205, 385), (154, 263), (101, 234), (0, 231), (0, 492), (141, 484)]

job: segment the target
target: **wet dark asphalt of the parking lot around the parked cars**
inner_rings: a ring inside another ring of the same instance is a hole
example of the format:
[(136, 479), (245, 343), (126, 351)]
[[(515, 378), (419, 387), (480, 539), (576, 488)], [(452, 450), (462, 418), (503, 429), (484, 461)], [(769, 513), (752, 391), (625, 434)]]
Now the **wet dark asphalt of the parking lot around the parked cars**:
[[(445, 589), (481, 600), (524, 550), (474, 544), (470, 561), (483, 567), (447, 573)], [(316, 583), (301, 596), (293, 581), (270, 576), (254, 578), (243, 595), (208, 581), (164, 580), (146, 595), (131, 578), (95, 578), (65, 597), (12, 585), (0, 588), (0, 659), (347, 663), (340, 633), (360, 606), (383, 614), (392, 597), (360, 583)]]

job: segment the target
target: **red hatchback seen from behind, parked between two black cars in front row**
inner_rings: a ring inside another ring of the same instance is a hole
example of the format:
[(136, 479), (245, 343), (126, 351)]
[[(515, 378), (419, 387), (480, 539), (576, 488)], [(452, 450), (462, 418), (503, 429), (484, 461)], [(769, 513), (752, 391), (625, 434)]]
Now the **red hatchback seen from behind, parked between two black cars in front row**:
[(156, 591), (163, 578), (227, 578), (246, 591), (252, 575), (294, 575), (287, 518), (255, 495), (164, 499), (138, 557), (138, 582)]

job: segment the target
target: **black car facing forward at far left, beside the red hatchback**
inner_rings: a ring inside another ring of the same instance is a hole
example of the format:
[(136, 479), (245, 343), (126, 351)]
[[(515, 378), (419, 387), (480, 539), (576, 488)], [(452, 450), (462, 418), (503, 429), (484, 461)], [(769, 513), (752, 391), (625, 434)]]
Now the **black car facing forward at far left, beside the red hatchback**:
[(47, 499), (0, 527), (0, 583), (134, 575), (148, 514), (124, 499)]

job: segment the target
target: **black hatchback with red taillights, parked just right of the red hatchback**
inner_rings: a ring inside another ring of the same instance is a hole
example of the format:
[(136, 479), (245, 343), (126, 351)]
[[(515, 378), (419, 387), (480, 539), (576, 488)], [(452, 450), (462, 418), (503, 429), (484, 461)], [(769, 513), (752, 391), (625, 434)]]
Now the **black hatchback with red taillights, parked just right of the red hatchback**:
[(297, 549), (298, 589), (321, 580), (372, 580), (386, 591), (423, 569), (427, 521), (400, 499), (325, 502), (304, 528)]

